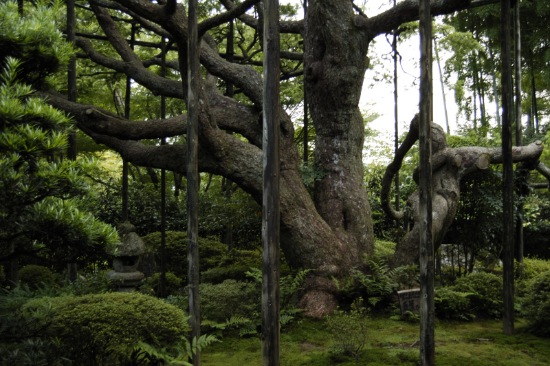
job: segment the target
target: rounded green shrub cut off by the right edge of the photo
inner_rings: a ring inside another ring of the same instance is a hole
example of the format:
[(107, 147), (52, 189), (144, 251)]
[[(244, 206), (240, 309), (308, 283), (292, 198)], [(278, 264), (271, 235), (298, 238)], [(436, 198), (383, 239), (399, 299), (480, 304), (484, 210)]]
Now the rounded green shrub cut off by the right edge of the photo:
[(526, 293), (521, 314), (529, 321), (531, 332), (550, 336), (550, 270), (531, 279)]

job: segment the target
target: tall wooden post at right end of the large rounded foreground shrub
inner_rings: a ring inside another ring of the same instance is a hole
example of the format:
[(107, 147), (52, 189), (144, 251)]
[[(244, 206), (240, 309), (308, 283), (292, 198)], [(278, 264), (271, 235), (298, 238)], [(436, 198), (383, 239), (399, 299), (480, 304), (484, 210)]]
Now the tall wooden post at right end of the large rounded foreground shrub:
[[(191, 341), (199, 341), (201, 317), (199, 303), (199, 165), (197, 160), (199, 138), (199, 39), (197, 32), (198, 1), (189, 0), (187, 52), (187, 288)], [(201, 364), (199, 349), (192, 356), (192, 364)]]

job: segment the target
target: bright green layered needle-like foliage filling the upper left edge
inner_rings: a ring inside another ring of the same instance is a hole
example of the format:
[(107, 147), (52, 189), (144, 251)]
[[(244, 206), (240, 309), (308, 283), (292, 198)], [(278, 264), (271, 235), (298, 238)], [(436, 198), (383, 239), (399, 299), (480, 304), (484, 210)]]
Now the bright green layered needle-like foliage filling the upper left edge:
[(61, 8), (39, 2), (19, 17), (17, 3), (0, 4), (1, 256), (47, 249), (52, 259), (91, 259), (118, 241), (93, 215), (85, 174), (94, 163), (63, 159), (71, 120), (25, 84), (41, 83), (72, 56), (54, 21)]

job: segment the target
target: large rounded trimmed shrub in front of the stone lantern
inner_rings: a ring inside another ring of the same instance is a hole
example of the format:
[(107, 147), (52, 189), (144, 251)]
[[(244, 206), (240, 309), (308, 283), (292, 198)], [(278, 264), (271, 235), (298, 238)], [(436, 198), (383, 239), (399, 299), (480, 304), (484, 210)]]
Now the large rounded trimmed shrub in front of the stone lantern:
[(187, 330), (183, 311), (135, 292), (43, 297), (29, 301), (25, 308), (57, 309), (47, 335), (61, 340), (64, 356), (74, 365), (124, 359), (138, 341), (170, 345)]

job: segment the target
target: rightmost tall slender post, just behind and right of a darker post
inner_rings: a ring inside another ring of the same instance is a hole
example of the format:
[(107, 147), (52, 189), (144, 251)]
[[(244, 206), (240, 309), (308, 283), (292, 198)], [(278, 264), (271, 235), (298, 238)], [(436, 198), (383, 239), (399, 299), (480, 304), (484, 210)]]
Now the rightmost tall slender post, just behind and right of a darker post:
[[(522, 125), (521, 125), (521, 30), (520, 30), (520, 1), (514, 0), (514, 69), (516, 86), (516, 146), (522, 146)], [(521, 164), (518, 164), (521, 166)], [(529, 173), (527, 173), (526, 179), (529, 179)], [(523, 182), (520, 182), (520, 195), (523, 195), (525, 189), (523, 189)], [(523, 264), (523, 204), (518, 204), (518, 213), (520, 213), (516, 222), (516, 261)]]

